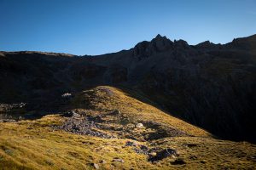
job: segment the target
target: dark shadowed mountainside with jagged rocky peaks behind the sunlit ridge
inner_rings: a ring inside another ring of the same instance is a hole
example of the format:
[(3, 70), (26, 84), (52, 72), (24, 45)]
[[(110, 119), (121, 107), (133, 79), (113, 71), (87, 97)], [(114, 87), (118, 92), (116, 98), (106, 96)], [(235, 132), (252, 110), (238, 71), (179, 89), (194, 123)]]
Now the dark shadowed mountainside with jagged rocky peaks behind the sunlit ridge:
[(256, 36), (191, 46), (158, 35), (115, 54), (1, 52), (0, 103), (58, 111), (61, 94), (98, 85), (143, 93), (172, 115), (222, 138), (256, 142)]

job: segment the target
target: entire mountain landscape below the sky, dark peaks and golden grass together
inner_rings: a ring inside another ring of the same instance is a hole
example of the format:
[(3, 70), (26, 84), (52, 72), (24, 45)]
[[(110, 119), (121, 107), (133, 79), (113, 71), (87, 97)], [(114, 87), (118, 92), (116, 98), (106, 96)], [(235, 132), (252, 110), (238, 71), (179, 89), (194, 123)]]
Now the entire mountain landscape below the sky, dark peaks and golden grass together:
[(255, 113), (256, 35), (0, 52), (0, 169), (255, 169)]

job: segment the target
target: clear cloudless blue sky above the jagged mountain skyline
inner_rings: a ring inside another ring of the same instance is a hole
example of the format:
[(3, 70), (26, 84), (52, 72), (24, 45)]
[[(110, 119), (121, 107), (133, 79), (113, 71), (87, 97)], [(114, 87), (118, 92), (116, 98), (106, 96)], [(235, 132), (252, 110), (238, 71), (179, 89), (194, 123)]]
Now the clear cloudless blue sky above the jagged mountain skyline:
[(256, 0), (0, 0), (0, 50), (106, 54), (158, 33), (189, 44), (256, 33)]

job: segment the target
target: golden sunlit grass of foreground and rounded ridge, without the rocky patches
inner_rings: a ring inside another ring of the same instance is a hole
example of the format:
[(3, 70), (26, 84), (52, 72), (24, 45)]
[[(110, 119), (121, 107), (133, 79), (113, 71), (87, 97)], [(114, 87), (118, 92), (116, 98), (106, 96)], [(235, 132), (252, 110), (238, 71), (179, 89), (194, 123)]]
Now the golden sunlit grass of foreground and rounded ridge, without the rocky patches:
[[(98, 163), (102, 169), (255, 168), (255, 145), (212, 139), (204, 130), (168, 116), (116, 88), (84, 91), (73, 99), (72, 107), (80, 112), (90, 109), (90, 114), (118, 109), (131, 122), (154, 120), (192, 134), (194, 137), (139, 142), (148, 147), (176, 149), (186, 163), (172, 165), (174, 158), (170, 157), (152, 164), (147, 161), (148, 156), (124, 147), (128, 139), (101, 139), (53, 130), (51, 125), (61, 124), (65, 117), (51, 115), (35, 121), (0, 123), (0, 169), (93, 169), (91, 163)], [(125, 162), (113, 162), (114, 157)], [(101, 160), (107, 163), (99, 163)]]

